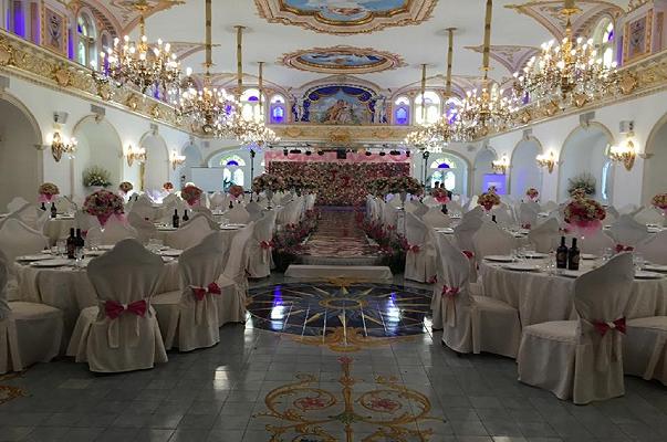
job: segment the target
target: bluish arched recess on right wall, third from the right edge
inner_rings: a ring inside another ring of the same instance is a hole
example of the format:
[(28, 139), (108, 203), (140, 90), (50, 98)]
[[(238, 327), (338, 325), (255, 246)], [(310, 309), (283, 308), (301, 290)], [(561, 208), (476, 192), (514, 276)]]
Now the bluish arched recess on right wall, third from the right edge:
[(542, 170), (535, 157), (542, 152), (542, 146), (535, 138), (522, 139), (512, 152), (510, 169), (510, 194), (521, 199), (528, 188), (542, 188)]

